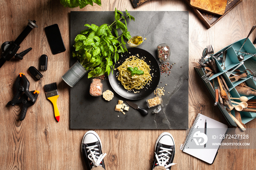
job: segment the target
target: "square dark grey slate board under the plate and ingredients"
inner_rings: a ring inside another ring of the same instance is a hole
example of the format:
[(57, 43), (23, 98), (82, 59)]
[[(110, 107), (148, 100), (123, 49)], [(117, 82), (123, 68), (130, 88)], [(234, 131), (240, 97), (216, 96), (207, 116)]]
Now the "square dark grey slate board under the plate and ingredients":
[[(157, 58), (157, 46), (167, 43), (170, 46), (171, 57), (169, 63), (176, 63), (171, 73), (162, 74), (159, 86), (165, 87), (162, 96), (164, 107), (153, 114), (155, 108), (147, 109), (149, 114), (141, 116), (131, 108), (125, 115), (114, 111), (118, 96), (111, 88), (108, 80), (103, 81), (103, 91), (110, 89), (114, 92), (111, 101), (103, 97), (92, 97), (89, 94), (91, 79), (84, 76), (70, 89), (70, 128), (71, 129), (186, 129), (188, 128), (188, 12), (187, 11), (132, 11), (135, 22), (128, 21), (128, 31), (131, 36), (140, 35), (147, 40), (138, 46), (147, 50)], [(74, 50), (74, 39), (84, 24), (111, 24), (114, 12), (71, 11), (70, 15), (70, 49)], [(75, 59), (71, 58), (72, 65)], [(167, 84), (167, 86), (165, 86)], [(168, 93), (169, 92), (169, 93)], [(147, 108), (148, 97), (133, 100), (142, 108)], [(127, 103), (126, 103), (127, 104)], [(127, 104), (128, 105), (128, 104)], [(118, 117), (119, 115), (119, 117)]]

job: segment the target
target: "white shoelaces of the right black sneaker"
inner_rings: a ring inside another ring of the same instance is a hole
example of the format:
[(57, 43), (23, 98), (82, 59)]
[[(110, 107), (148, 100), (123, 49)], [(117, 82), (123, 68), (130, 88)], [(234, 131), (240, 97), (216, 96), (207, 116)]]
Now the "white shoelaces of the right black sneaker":
[[(164, 166), (166, 169), (172, 165), (175, 165), (176, 163), (170, 163), (169, 165), (166, 164), (170, 159), (168, 154), (172, 155), (172, 153), (169, 152), (169, 151), (172, 151), (172, 149), (163, 148), (163, 147), (160, 147), (160, 149), (162, 149), (162, 151), (159, 151), (159, 152), (162, 152), (162, 154), (157, 155), (157, 153), (155, 153), (155, 157), (157, 158), (157, 162), (158, 162), (157, 164), (159, 166)], [(163, 152), (166, 152), (166, 153), (163, 153)]]

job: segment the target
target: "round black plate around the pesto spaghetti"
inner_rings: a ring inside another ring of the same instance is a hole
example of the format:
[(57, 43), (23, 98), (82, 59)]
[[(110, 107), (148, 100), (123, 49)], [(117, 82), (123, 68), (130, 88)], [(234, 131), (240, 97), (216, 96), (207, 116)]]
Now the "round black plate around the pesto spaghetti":
[(132, 55), (136, 56), (137, 54), (139, 54), (140, 59), (142, 57), (143, 58), (146, 57), (144, 61), (151, 68), (150, 70), (151, 76), (154, 73), (152, 76), (152, 81), (150, 82), (149, 85), (146, 84), (144, 88), (140, 90), (134, 89), (134, 91), (139, 91), (138, 93), (134, 93), (133, 91), (128, 92), (128, 90), (126, 90), (123, 87), (121, 82), (117, 80), (117, 75), (119, 74), (117, 69), (113, 70), (113, 74), (110, 73), (108, 76), (110, 85), (112, 86), (113, 90), (117, 94), (119, 94), (121, 97), (124, 97), (126, 99), (131, 99), (131, 100), (138, 100), (138, 99), (147, 97), (148, 95), (154, 92), (154, 90), (157, 88), (157, 85), (160, 81), (160, 68), (157, 60), (152, 54), (150, 54), (148, 51), (143, 49), (139, 49), (139, 48), (128, 49), (128, 53), (127, 52), (124, 53), (123, 57), (119, 56), (119, 60), (118, 60), (119, 63), (116, 63), (115, 68), (120, 66), (125, 61), (126, 58), (129, 58)]

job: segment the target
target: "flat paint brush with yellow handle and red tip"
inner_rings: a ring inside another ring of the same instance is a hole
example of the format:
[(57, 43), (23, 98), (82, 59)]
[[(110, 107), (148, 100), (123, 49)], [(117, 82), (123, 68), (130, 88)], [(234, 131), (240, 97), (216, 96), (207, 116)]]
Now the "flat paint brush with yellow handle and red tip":
[(57, 83), (54, 82), (54, 83), (51, 83), (51, 84), (44, 85), (44, 90), (45, 90), (46, 97), (53, 104), (54, 115), (55, 115), (56, 120), (59, 122), (60, 113), (59, 113), (59, 110), (57, 108), (57, 98), (59, 97), (59, 93), (58, 93), (58, 90), (57, 90)]

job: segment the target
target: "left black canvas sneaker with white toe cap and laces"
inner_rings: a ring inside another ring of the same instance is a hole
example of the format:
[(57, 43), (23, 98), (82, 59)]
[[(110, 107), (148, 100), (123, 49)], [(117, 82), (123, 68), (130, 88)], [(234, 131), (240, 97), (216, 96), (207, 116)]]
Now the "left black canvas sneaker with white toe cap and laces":
[(96, 166), (102, 166), (105, 169), (103, 158), (106, 153), (102, 153), (101, 139), (99, 139), (99, 135), (96, 132), (88, 131), (84, 134), (82, 153), (88, 170)]

